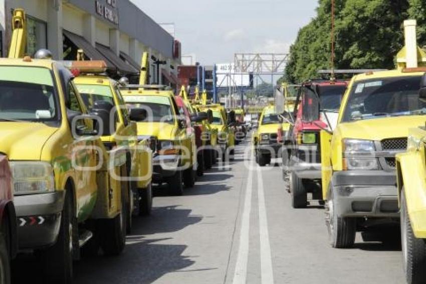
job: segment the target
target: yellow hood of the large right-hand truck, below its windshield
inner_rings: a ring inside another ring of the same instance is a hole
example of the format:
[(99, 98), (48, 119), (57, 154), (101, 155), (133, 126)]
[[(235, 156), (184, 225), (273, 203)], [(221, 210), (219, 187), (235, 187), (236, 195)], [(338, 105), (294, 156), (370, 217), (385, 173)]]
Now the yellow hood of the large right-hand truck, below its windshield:
[(408, 129), (424, 125), (426, 116), (395, 116), (339, 123), (337, 131), (342, 138), (381, 140), (407, 137)]

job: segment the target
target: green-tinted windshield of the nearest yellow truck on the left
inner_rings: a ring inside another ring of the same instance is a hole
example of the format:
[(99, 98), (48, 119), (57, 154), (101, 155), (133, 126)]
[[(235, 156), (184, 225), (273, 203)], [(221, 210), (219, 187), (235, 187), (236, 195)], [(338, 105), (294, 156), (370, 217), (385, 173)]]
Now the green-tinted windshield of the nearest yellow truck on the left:
[(2, 66), (0, 78), (0, 120), (58, 120), (49, 69)]

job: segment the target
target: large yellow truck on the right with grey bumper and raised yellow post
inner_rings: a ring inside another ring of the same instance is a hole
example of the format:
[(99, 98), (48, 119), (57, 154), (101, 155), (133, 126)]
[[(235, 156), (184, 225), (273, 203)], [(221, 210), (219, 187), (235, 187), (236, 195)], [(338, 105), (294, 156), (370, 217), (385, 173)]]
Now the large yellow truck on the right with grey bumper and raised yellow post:
[(415, 21), (404, 27), (397, 68), (354, 76), (337, 126), (321, 131), (322, 194), (336, 248), (351, 247), (356, 231), (399, 222), (395, 154), (406, 151), (408, 129), (424, 125), (426, 117), (417, 94), (426, 54), (416, 46)]

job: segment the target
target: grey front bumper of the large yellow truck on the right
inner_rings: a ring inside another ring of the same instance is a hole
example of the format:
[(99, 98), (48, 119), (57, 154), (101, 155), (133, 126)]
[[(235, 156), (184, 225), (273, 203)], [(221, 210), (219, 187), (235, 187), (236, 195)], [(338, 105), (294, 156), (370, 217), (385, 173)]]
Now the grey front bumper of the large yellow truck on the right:
[(396, 176), (393, 172), (336, 172), (332, 184), (337, 216), (399, 217)]

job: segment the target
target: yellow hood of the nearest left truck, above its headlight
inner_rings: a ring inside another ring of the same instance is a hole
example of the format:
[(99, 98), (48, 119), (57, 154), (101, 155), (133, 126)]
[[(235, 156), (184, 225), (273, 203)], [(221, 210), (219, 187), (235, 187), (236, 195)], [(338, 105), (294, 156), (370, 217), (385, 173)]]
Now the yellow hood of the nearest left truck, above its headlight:
[(34, 122), (0, 122), (0, 152), (9, 160), (40, 160), (43, 146), (59, 128)]

